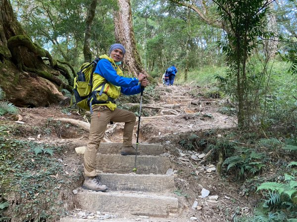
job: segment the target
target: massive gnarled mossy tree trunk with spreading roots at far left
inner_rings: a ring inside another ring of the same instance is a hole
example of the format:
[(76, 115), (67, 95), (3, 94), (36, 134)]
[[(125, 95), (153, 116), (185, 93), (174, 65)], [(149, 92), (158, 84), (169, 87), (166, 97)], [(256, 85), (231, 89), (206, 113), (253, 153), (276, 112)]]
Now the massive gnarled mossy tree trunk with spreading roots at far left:
[[(34, 44), (16, 20), (9, 0), (0, 0), (0, 87), (6, 98), (22, 107), (48, 106), (64, 99), (59, 88), (72, 90), (73, 76)], [(47, 65), (43, 58), (47, 58)]]

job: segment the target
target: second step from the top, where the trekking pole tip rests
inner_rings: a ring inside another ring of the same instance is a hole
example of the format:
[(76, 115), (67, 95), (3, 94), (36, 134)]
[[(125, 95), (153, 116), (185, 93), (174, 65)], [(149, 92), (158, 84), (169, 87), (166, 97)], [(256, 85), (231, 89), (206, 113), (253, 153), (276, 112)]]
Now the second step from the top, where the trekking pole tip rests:
[[(135, 156), (97, 153), (97, 170), (103, 173), (134, 173)], [(165, 156), (137, 156), (136, 174), (166, 174), (173, 163)]]

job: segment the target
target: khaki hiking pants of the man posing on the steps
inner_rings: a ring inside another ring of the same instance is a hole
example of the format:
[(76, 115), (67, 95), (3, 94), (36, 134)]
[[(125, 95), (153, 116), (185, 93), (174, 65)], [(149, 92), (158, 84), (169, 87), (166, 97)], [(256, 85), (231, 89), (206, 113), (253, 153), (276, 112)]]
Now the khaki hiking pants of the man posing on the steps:
[(123, 132), (123, 146), (132, 146), (132, 134), (136, 121), (133, 112), (118, 109), (111, 111), (106, 106), (95, 106), (91, 115), (91, 126), (89, 142), (84, 154), (85, 177), (95, 177), (96, 173), (96, 154), (100, 145), (100, 140), (105, 135), (107, 124), (112, 122), (125, 123)]

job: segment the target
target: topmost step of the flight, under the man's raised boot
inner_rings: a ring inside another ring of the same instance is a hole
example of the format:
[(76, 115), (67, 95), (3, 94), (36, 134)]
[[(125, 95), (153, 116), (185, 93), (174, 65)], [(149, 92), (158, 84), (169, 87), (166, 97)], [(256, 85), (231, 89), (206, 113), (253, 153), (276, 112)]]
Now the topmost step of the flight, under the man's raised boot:
[[(133, 146), (136, 148), (136, 144), (134, 143)], [(121, 142), (101, 142), (98, 152), (102, 154), (120, 154), (122, 149)], [(141, 155), (160, 155), (165, 153), (164, 146), (158, 144), (147, 144), (147, 143), (140, 143), (138, 145), (138, 150)]]

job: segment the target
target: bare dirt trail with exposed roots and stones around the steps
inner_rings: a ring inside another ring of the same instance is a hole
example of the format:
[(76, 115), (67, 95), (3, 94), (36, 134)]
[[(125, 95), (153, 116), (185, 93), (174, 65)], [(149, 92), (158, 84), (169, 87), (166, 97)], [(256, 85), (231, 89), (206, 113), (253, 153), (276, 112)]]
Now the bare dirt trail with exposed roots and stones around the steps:
[[(177, 194), (185, 196), (185, 217), (197, 217), (199, 221), (232, 221), (238, 208), (241, 213), (249, 212), (247, 200), (239, 193), (241, 187), (219, 177), (215, 172), (206, 173), (206, 170), (215, 163), (200, 164), (191, 159), (191, 152), (179, 147), (178, 142), (191, 133), (205, 132), (214, 129), (230, 129), (236, 126), (236, 117), (227, 116), (218, 112), (224, 100), (198, 97), (190, 95), (191, 87), (158, 85), (154, 89), (154, 96), (146, 95), (143, 98), (143, 116), (140, 127), (141, 143), (166, 144), (169, 155), (176, 163)], [(138, 103), (127, 103), (126, 107), (138, 106)], [(136, 110), (138, 110), (137, 108)], [(51, 106), (47, 108), (22, 108), (20, 112), (22, 121), (27, 127), (20, 134), (24, 139), (53, 144), (68, 144), (71, 152), (65, 153), (63, 161), (65, 166), (77, 170), (81, 167), (81, 156), (78, 158), (74, 152), (75, 145), (86, 145), (88, 132), (78, 129), (71, 124), (60, 124), (53, 119), (70, 118), (88, 121), (88, 115), (80, 115), (66, 107)], [(138, 121), (138, 118), (137, 118)], [(123, 124), (108, 125), (106, 141), (121, 142)], [(43, 133), (37, 135), (34, 129), (43, 128)], [(137, 124), (135, 125), (133, 142), (136, 142)], [(170, 153), (170, 147), (175, 153)], [(198, 154), (198, 152), (194, 152)], [(173, 155), (174, 154), (174, 155)], [(202, 150), (199, 151), (202, 154)], [(184, 159), (188, 159), (185, 161)], [(205, 200), (199, 198), (201, 189), (210, 191), (209, 195), (218, 195), (218, 200)], [(191, 206), (197, 201), (197, 208)]]

